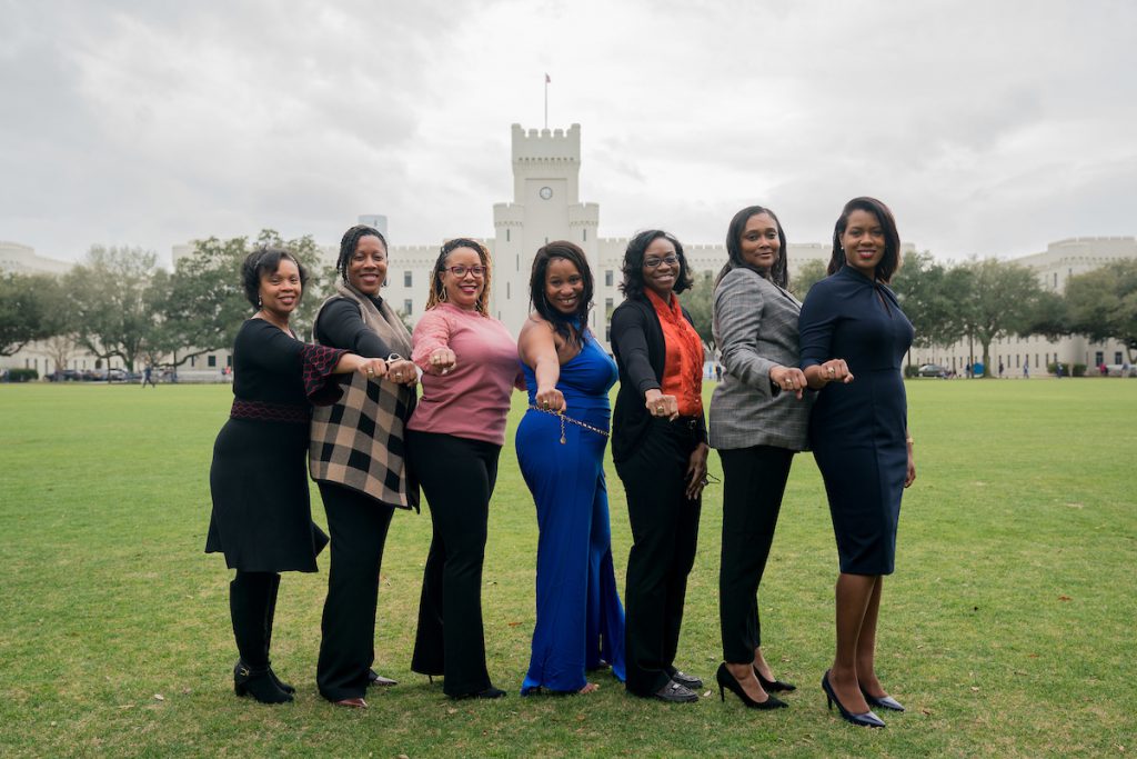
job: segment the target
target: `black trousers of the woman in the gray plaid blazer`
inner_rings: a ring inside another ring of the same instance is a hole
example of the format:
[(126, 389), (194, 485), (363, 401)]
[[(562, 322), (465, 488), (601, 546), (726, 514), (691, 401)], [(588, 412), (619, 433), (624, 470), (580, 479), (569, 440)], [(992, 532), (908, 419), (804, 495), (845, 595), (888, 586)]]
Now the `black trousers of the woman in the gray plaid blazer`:
[(719, 451), (722, 460), (722, 558), (719, 622), (722, 655), (730, 663), (754, 661), (762, 645), (758, 584), (774, 541), (794, 452), (769, 445)]

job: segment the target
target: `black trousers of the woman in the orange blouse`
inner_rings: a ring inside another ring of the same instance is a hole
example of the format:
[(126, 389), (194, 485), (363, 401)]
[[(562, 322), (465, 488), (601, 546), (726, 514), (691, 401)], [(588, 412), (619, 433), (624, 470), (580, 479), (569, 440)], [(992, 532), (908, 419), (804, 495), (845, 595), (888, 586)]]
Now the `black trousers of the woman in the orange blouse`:
[(702, 503), (687, 497), (687, 465), (697, 434), (682, 422), (652, 420), (652, 429), (616, 473), (628, 495), (632, 547), (624, 589), (626, 687), (662, 688), (675, 671), (687, 575), (695, 564)]

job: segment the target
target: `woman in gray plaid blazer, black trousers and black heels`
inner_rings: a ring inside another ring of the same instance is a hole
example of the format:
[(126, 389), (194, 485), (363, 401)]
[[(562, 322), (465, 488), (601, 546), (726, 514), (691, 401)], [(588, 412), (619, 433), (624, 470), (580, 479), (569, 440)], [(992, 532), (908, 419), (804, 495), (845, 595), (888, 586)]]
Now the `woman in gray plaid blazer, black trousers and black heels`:
[(724, 478), (719, 618), (729, 688), (753, 709), (787, 706), (762, 655), (757, 591), (774, 538), (794, 454), (806, 448), (810, 406), (798, 365), (802, 304), (786, 290), (786, 233), (774, 213), (749, 206), (727, 232), (727, 265), (715, 281), (714, 337), (722, 382), (711, 398), (711, 447)]

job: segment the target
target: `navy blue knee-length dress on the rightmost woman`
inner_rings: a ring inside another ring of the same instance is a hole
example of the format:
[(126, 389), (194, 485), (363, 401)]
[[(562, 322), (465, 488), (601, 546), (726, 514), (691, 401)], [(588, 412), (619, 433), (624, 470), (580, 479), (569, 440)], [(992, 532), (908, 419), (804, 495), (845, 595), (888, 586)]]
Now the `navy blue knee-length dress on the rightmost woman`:
[(810, 418), (841, 571), (890, 575), (908, 465), (901, 364), (912, 323), (888, 287), (844, 266), (810, 290), (798, 329), (802, 369), (844, 358), (854, 378), (822, 388)]

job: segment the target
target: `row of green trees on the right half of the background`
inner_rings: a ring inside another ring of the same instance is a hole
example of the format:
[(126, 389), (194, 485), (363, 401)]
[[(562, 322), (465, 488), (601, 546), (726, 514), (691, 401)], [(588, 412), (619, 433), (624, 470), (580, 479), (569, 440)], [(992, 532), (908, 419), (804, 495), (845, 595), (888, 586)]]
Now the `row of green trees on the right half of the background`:
[[(683, 296), (704, 341), (712, 333), (715, 272), (699, 272)], [(825, 263), (811, 259), (790, 279), (790, 290), (805, 298), (825, 277)], [(1137, 358), (1137, 261), (1117, 261), (1067, 280), (1063, 294), (1045, 289), (1031, 269), (997, 258), (944, 264), (930, 253), (908, 251), (891, 288), (915, 328), (915, 347), (947, 347), (966, 340), (979, 348), (990, 376), (990, 346), (1016, 335), (1059, 339), (1082, 335), (1094, 343), (1120, 340), (1129, 362)], [(910, 354), (911, 355), (911, 354)]]

